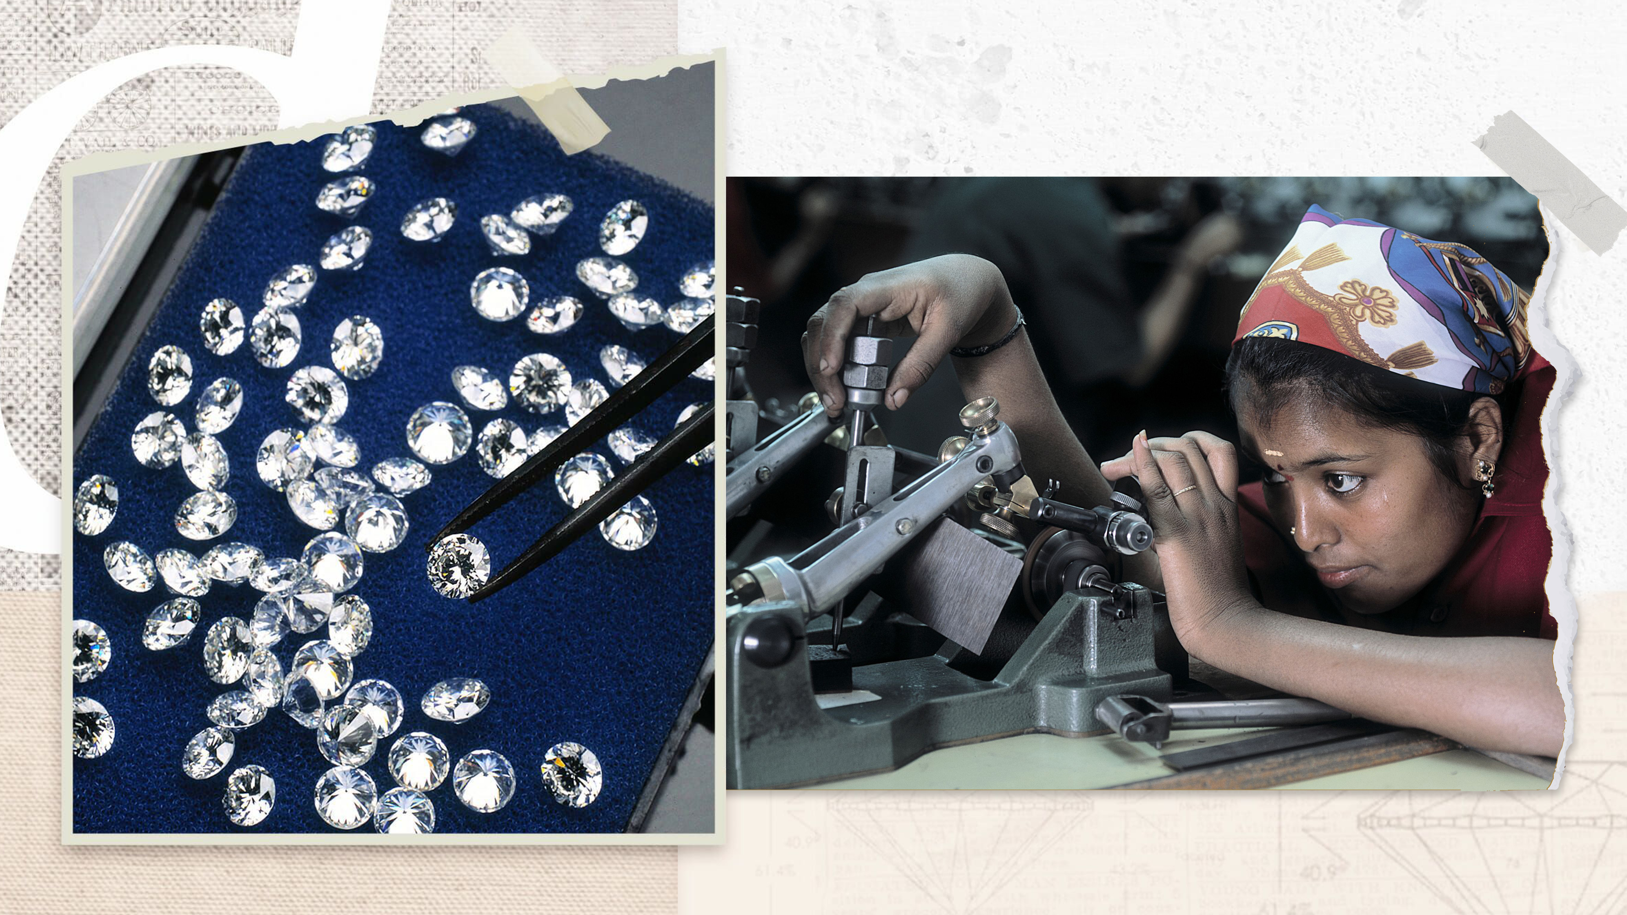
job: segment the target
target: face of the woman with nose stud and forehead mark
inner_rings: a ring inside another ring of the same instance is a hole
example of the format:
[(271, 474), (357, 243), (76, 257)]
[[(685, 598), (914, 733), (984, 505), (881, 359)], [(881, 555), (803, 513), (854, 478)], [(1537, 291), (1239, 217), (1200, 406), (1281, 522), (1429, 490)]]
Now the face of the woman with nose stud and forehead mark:
[(1243, 454), (1266, 469), (1271, 516), (1342, 607), (1381, 614), (1417, 594), (1469, 536), (1476, 495), (1424, 440), (1376, 430), (1319, 397), (1238, 414)]

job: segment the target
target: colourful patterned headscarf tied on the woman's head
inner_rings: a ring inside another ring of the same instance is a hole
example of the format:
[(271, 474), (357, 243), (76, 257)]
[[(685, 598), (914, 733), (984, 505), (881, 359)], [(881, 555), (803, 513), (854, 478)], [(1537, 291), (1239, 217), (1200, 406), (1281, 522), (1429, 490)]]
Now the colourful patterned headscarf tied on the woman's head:
[(1313, 205), (1243, 306), (1237, 337), (1315, 344), (1498, 394), (1531, 361), (1529, 295), (1463, 244)]

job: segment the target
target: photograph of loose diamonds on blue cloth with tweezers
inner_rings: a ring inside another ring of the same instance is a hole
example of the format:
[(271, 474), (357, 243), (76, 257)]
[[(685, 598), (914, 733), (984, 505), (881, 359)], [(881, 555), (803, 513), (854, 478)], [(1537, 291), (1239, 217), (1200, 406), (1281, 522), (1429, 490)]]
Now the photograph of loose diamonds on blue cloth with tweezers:
[(68, 842), (714, 838), (718, 78), (63, 174)]

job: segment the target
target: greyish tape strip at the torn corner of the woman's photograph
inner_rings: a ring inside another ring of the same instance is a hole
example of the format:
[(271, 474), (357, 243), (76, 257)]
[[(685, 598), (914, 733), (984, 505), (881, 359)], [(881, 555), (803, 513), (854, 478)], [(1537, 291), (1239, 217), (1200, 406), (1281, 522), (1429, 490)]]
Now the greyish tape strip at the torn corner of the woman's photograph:
[(1627, 210), (1515, 112), (1498, 114), (1476, 142), (1485, 158), (1534, 194), (1594, 254), (1627, 228)]

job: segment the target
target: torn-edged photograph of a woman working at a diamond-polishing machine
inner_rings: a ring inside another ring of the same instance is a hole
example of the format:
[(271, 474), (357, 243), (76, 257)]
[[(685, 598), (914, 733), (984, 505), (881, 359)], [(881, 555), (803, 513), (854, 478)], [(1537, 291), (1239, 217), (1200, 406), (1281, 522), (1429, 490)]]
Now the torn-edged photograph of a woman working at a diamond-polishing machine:
[(727, 226), (729, 788), (1549, 786), (1513, 181), (731, 177)]

